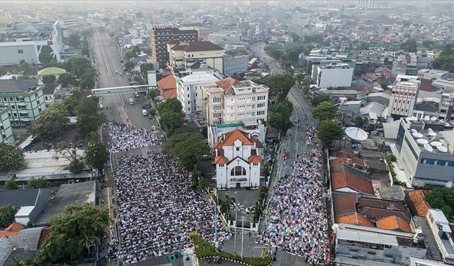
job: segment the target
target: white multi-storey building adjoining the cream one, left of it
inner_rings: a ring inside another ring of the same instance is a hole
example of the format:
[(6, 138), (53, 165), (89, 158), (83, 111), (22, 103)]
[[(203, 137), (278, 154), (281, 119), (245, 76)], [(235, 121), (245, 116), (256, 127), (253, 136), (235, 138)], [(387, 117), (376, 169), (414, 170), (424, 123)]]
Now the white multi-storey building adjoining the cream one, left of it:
[(177, 99), (182, 103), (187, 120), (203, 118), (202, 86), (215, 84), (220, 79), (214, 70), (198, 69), (175, 73), (177, 81)]

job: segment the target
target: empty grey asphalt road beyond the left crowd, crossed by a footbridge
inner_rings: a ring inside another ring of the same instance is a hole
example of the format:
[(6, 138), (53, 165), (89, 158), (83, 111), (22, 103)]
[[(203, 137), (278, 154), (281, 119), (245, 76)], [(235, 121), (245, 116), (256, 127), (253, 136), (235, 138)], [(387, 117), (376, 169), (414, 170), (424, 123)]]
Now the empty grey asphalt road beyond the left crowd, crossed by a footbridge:
[[(120, 52), (112, 44), (109, 35), (104, 31), (96, 31), (92, 39), (92, 45), (96, 67), (99, 70), (96, 88), (129, 86), (128, 77), (124, 74), (120, 76), (120, 73), (123, 72)], [(118, 74), (116, 74), (116, 71)], [(145, 102), (143, 94), (140, 94), (137, 99), (133, 93), (113, 94), (100, 96), (100, 98), (104, 106), (102, 112), (111, 121), (115, 120), (141, 128), (151, 128), (152, 125), (157, 125), (155, 118), (150, 119), (142, 114), (142, 106)], [(135, 104), (131, 105), (129, 99), (133, 99)], [(109, 109), (107, 109), (108, 107)]]

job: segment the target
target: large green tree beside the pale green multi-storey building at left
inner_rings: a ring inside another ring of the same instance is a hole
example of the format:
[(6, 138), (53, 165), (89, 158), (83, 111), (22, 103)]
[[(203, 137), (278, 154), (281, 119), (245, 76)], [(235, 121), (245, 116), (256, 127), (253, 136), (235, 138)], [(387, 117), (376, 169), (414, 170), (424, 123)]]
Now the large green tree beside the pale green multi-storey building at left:
[(65, 105), (57, 101), (40, 113), (33, 122), (30, 133), (40, 140), (52, 140), (65, 127), (67, 116)]

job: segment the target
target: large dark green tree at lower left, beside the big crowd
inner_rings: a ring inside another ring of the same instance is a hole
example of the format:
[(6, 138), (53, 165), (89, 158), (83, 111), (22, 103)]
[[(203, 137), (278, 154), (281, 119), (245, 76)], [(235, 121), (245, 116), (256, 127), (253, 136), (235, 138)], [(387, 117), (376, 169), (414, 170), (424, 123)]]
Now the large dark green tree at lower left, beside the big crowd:
[(90, 246), (100, 245), (107, 226), (109, 211), (104, 207), (84, 204), (67, 206), (62, 214), (50, 220), (52, 231), (43, 243), (35, 262), (81, 260)]

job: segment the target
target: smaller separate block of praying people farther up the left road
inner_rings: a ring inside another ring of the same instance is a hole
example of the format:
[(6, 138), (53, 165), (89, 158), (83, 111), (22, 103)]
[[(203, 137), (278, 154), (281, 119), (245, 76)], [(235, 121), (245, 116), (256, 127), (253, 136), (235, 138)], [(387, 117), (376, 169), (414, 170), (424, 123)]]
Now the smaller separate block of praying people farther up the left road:
[(109, 121), (109, 138), (111, 153), (162, 145), (162, 138), (160, 138), (157, 126), (152, 126), (149, 130)]

